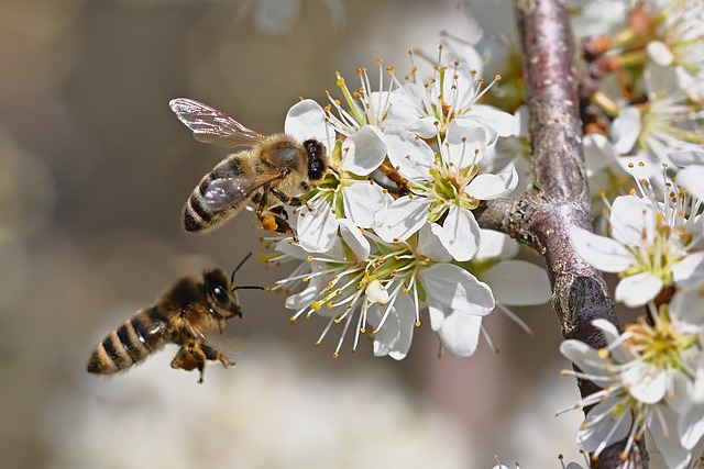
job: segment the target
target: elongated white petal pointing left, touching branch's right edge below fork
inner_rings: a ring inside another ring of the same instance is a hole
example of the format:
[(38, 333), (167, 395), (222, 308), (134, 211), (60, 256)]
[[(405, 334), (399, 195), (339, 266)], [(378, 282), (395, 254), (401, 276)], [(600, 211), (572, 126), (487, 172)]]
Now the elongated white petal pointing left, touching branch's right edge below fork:
[(579, 226), (570, 227), (570, 241), (585, 261), (605, 272), (622, 272), (634, 263), (630, 253), (618, 242)]

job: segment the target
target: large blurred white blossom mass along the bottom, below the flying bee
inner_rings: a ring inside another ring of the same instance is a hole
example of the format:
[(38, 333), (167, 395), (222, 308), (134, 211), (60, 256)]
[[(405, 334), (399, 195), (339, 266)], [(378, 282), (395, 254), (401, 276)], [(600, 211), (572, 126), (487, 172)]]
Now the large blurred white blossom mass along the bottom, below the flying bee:
[(169, 360), (158, 354), (124, 376), (54, 388), (42, 422), (47, 467), (472, 466), (466, 431), (373, 362), (322, 370), (266, 340), (199, 386)]

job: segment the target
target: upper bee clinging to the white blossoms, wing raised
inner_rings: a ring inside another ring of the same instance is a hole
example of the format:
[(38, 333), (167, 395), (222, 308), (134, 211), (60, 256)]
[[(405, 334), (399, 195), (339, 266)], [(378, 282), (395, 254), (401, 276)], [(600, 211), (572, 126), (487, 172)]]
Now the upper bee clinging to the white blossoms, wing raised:
[(301, 143), (285, 134), (265, 136), (190, 99), (175, 99), (169, 107), (197, 141), (230, 148), (251, 147), (229, 155), (204, 176), (184, 206), (184, 228), (211, 231), (252, 201), (263, 228), (294, 233), (288, 213), (283, 205), (272, 206), (276, 201), (271, 196), (292, 206), (306, 203), (299, 196), (328, 171), (322, 143), (315, 138)]

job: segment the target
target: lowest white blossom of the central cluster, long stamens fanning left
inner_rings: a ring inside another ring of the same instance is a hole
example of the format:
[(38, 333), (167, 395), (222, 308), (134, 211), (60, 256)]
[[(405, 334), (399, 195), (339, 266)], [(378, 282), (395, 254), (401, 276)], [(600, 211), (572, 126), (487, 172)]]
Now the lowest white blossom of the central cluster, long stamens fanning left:
[(458, 356), (471, 355), (481, 330), (482, 316), (494, 309), (492, 292), (463, 268), (449, 264), (452, 257), (439, 244), (430, 225), (405, 242), (386, 243), (352, 223), (340, 222), (340, 236), (326, 253), (311, 255), (290, 241), (280, 242), (271, 260), (293, 257), (304, 263), (277, 287), (302, 281), (305, 288), (286, 300), (301, 315), (329, 317), (320, 336), (342, 324), (340, 348), (350, 325), (354, 327), (352, 349), (360, 335), (372, 327), (374, 354), (403, 359), (410, 347), (414, 328), (421, 324), (427, 305), (430, 324), (443, 347)]

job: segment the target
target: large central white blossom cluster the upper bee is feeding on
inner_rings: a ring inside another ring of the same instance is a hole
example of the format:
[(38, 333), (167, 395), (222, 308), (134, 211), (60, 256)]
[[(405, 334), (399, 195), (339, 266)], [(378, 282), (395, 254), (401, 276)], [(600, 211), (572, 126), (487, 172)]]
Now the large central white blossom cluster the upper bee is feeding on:
[(375, 355), (404, 358), (425, 309), (442, 346), (469, 356), (497, 302), (549, 299), (546, 273), (525, 261), (507, 260), (531, 272), (525, 295), (512, 284), (498, 298), (488, 284), (516, 250), (504, 235), (483, 233), (472, 211), (517, 187), (513, 165), (495, 169), (494, 155), (497, 141), (519, 125), (479, 102), (491, 88), (480, 78), (483, 58), (472, 47), (462, 57), (440, 54), (425, 81), (413, 54), (411, 66), (402, 80), (378, 60), (378, 90), (366, 69), (358, 70), (356, 90), (337, 74), (342, 100), (331, 93), (324, 107), (301, 100), (286, 118), (287, 134), (323, 143), (331, 170), (294, 212), (296, 235), (262, 257), (299, 264), (274, 289), (292, 292), (292, 321), (329, 319), (320, 340), (340, 325), (336, 357), (352, 330), (352, 349), (370, 333)]

